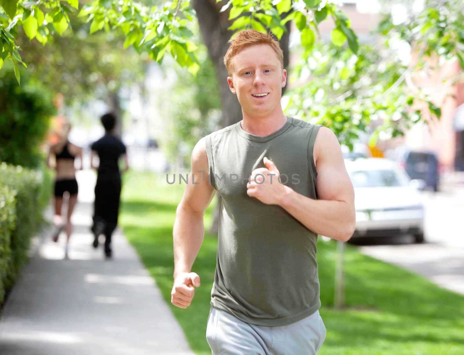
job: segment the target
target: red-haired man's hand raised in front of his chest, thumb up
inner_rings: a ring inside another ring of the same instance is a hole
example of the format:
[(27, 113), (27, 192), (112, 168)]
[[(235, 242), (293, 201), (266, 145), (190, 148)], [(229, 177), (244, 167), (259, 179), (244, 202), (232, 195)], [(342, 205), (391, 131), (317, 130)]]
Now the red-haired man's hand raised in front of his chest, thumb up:
[(280, 173), (273, 161), (266, 157), (263, 161), (266, 168), (258, 168), (251, 172), (251, 181), (246, 184), (246, 194), (266, 205), (280, 205), (290, 187), (279, 182)]

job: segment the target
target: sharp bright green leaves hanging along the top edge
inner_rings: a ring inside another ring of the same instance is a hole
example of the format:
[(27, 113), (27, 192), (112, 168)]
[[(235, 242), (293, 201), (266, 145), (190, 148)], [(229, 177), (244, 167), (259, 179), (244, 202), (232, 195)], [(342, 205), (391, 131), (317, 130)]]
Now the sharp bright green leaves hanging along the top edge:
[[(79, 5), (77, 0), (2, 0), (1, 4), (1, 56), (2, 60), (10, 58), (15, 67), (23, 63), (15, 41), (19, 26), (23, 27), (29, 39), (35, 38), (45, 45), (53, 33), (62, 35), (68, 28), (72, 31), (69, 14)], [(302, 38), (308, 50), (314, 45), (317, 21), (330, 16), (335, 21), (336, 30), (342, 33), (338, 36), (338, 43), (342, 43), (342, 36), (345, 36), (350, 48), (354, 52), (357, 49), (357, 38), (348, 18), (332, 2), (325, 2), (322, 6), (321, 0), (305, 0), (293, 5), (291, 0), (234, 0), (223, 6), (221, 11), (229, 7), (229, 19), (233, 20), (231, 30), (255, 28), (265, 31), (268, 27), (280, 39), (286, 31), (285, 23), (295, 20), (298, 29), (304, 30)], [(286, 12), (290, 14), (281, 19), (280, 15)], [(193, 73), (199, 69), (195, 56), (197, 46), (189, 40), (193, 37), (189, 26), (195, 15), (189, 0), (168, 1), (162, 6), (151, 7), (130, 0), (96, 0), (84, 5), (78, 14), (90, 23), (90, 33), (119, 29), (125, 35), (125, 48), (132, 45), (139, 52), (148, 52), (152, 59), (160, 63), (168, 52), (177, 63)]]

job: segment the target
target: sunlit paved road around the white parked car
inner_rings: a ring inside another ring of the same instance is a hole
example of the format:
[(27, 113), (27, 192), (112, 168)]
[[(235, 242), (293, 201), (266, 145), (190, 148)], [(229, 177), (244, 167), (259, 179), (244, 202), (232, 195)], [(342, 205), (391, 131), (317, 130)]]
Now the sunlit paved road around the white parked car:
[(425, 192), (425, 243), (413, 237), (363, 239), (361, 252), (415, 271), (446, 289), (464, 294), (464, 187)]

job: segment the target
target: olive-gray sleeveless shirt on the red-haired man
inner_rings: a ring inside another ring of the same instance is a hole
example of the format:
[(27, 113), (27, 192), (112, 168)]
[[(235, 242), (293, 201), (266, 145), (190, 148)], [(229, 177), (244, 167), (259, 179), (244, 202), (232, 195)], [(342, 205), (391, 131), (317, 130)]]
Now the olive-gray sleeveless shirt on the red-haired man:
[[(283, 326), (319, 309), (316, 233), (277, 205), (246, 194), (263, 158), (280, 181), (316, 199), (313, 147), (320, 126), (287, 117), (269, 136), (245, 132), (240, 122), (206, 136), (210, 182), (219, 192), (219, 241), (211, 304), (238, 319)], [(279, 183), (275, 176), (265, 176)]]

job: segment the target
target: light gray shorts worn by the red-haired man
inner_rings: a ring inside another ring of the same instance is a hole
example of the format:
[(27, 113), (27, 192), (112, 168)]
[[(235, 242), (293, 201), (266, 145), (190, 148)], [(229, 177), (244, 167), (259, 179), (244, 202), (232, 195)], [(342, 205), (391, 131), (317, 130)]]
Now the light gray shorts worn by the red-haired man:
[(325, 335), (319, 311), (283, 327), (263, 327), (212, 307), (206, 327), (213, 355), (316, 355)]

